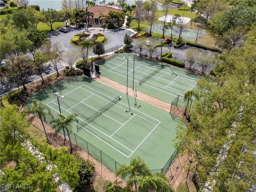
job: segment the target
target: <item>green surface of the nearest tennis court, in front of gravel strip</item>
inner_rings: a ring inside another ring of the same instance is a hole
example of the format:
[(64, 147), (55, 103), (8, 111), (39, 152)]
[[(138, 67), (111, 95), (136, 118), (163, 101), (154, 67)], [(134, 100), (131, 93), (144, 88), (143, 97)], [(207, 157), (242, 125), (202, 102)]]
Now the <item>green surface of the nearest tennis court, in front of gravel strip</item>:
[(166, 172), (175, 159), (172, 139), (178, 122), (168, 112), (82, 77), (62, 80), (29, 101), (36, 98), (57, 116), (55, 92), (64, 96), (59, 99), (64, 116), (78, 114), (79, 123), (72, 123), (72, 140), (112, 171), (140, 156), (151, 170)]

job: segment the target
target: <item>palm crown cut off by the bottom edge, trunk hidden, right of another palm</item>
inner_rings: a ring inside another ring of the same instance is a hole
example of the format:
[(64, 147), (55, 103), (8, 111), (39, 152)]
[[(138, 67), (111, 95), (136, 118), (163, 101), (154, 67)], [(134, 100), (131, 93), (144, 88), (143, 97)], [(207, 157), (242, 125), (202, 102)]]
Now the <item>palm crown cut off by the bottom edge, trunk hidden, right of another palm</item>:
[(139, 181), (138, 192), (174, 192), (168, 178), (163, 173), (156, 173), (154, 176), (135, 177)]

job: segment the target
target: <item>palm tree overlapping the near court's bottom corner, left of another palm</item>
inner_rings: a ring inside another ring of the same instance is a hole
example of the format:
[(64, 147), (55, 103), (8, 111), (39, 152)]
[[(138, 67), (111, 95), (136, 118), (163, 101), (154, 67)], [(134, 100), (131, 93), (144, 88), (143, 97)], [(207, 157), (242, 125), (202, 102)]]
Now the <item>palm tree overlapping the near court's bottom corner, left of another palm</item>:
[(122, 165), (116, 170), (116, 175), (120, 175), (122, 179), (126, 176), (129, 177), (128, 183), (130, 186), (135, 185), (135, 190), (137, 190), (138, 180), (134, 178), (142, 177), (142, 176), (150, 176), (151, 170), (145, 164), (145, 162), (139, 157), (134, 157), (130, 161), (130, 165)]

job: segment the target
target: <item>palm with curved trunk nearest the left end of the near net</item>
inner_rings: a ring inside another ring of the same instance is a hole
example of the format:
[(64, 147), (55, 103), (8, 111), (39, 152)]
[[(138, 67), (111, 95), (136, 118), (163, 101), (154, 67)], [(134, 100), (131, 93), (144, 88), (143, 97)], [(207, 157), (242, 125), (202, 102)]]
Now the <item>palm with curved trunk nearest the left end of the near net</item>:
[(50, 121), (50, 124), (52, 124), (52, 127), (55, 128), (56, 132), (59, 132), (62, 128), (66, 129), (66, 132), (68, 133), (69, 142), (70, 142), (70, 148), (71, 148), (70, 154), (71, 154), (73, 151), (72, 142), (70, 139), (71, 123), (73, 121), (78, 123), (78, 119), (76, 118), (78, 114), (73, 113), (65, 117), (60, 113), (57, 116), (58, 118), (53, 118)]

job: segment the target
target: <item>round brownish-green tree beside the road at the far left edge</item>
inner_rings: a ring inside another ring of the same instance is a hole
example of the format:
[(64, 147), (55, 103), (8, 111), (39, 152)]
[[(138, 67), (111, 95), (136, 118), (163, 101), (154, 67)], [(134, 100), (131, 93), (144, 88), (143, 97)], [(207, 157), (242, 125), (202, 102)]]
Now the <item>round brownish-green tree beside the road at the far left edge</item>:
[(6, 70), (3, 72), (3, 76), (9, 82), (22, 85), (24, 90), (27, 90), (26, 84), (33, 74), (32, 60), (26, 56), (13, 56), (7, 61)]

